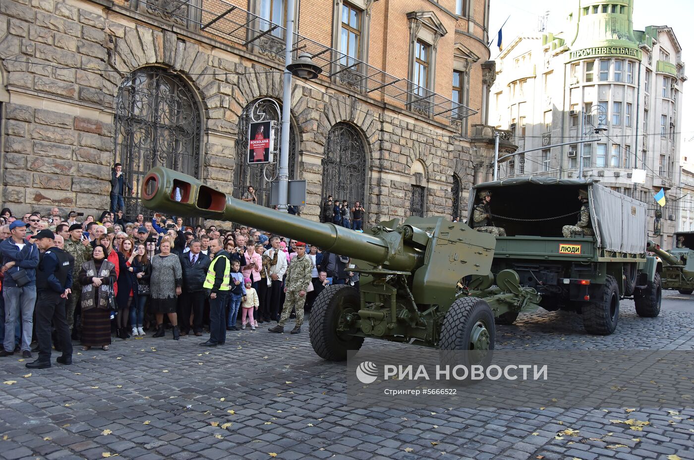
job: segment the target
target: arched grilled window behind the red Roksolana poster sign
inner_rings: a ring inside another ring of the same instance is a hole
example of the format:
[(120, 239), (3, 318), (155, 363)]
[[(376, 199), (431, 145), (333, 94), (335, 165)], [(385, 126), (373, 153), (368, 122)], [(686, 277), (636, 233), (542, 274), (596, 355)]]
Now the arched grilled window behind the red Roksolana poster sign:
[[(280, 110), (282, 105), (280, 105)], [(254, 118), (260, 120), (274, 120), (275, 123), (275, 145), (276, 149), (272, 163), (248, 164), (246, 153), (248, 152), (248, 126), (251, 123), (251, 110), (254, 111)], [(296, 179), (296, 130), (294, 123), (290, 123), (289, 130), (289, 180)], [(268, 179), (277, 180), (275, 177), (278, 170), (280, 155), (280, 114), (277, 113), (276, 105), (269, 100), (255, 100), (244, 108), (239, 117), (239, 133), (236, 142), (236, 167), (234, 168), (234, 196), (241, 198), (248, 188), (252, 185), (257, 196), (257, 204), (262, 206), (270, 205), (270, 182)]]

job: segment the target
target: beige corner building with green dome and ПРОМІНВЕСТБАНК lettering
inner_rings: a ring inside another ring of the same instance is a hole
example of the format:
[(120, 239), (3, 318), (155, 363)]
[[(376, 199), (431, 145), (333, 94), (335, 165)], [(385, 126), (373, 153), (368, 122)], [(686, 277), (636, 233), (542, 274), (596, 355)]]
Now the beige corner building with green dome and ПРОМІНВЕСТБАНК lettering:
[[(518, 151), (537, 149), (502, 156), (500, 178), (599, 179), (648, 203), (649, 235), (667, 246), (679, 220), (673, 200), (687, 78), (674, 31), (635, 30), (633, 7), (631, 0), (572, 1), (563, 31), (517, 37), (497, 60), (489, 121), (514, 132)], [(582, 139), (582, 126), (583, 139), (606, 130), (597, 142), (571, 144)], [(634, 185), (634, 169), (645, 170), (645, 183)], [(653, 198), (661, 188), (668, 203), (662, 210)]]

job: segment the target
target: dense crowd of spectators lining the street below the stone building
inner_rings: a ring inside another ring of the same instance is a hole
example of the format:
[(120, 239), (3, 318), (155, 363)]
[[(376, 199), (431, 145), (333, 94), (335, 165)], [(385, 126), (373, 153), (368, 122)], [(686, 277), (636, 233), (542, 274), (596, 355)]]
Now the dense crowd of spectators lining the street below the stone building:
[[(253, 198), (248, 191), (248, 201)], [(346, 221), (340, 215), (341, 225), (361, 230), (364, 212), (358, 202)], [(239, 330), (239, 320), (242, 329), (248, 325), (251, 330), (280, 321), (285, 276), (297, 253), (303, 267), (305, 259), (311, 266), (312, 286), (301, 291), (305, 312), (328, 284), (358, 287), (359, 282), (347, 257), (321, 252), (310, 242), (304, 255), (297, 241), (244, 225), (205, 228), (161, 214), (126, 219), (120, 210), (96, 217), (81, 212), (61, 216), (57, 207), (19, 217), (5, 208), (0, 212), (0, 356), (21, 352), (27, 358), (37, 350), (33, 318), (40, 308), (35, 305), (35, 271), (41, 250), (31, 236), (41, 230), (51, 230), (56, 246), (74, 258), (65, 318), (71, 339), (80, 341), (83, 350), (108, 350), (114, 337), (164, 337), (171, 330), (178, 340), (207, 333), (210, 289), (205, 285), (214, 279), (210, 264), (222, 251), (230, 265), (222, 325), (229, 331)], [(58, 341), (54, 345), (58, 350)]]

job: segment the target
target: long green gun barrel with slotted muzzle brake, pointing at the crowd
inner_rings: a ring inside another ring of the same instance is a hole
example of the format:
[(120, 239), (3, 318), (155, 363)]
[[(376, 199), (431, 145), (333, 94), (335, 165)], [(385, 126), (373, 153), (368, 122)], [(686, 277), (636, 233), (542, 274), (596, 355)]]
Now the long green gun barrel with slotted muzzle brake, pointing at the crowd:
[(373, 264), (387, 263), (393, 270), (411, 270), (421, 265), (423, 259), (421, 251), (414, 248), (406, 247), (394, 253), (380, 237), (237, 200), (171, 169), (151, 169), (142, 182), (141, 196), (143, 204), (151, 210), (240, 223), (306, 241), (331, 253)]

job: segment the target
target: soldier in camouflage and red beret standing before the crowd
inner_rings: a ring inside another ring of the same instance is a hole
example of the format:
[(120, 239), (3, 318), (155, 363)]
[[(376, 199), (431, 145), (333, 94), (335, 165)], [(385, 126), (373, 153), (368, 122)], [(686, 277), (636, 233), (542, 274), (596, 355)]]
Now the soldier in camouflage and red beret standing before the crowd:
[(289, 319), (291, 309), (296, 310), (296, 324), (290, 334), (298, 334), (301, 332), (303, 324), (303, 305), (306, 301), (306, 289), (311, 283), (311, 271), (313, 262), (307, 257), (306, 244), (298, 241), (296, 243), (296, 257), (291, 259), (291, 264), (287, 268), (285, 278), (285, 305), (282, 305), (282, 316), (275, 327), (269, 329), (270, 332), (285, 332), (285, 323)]

